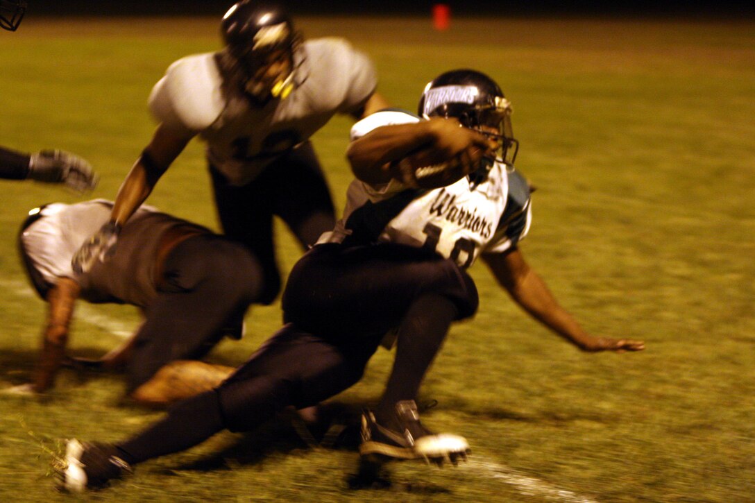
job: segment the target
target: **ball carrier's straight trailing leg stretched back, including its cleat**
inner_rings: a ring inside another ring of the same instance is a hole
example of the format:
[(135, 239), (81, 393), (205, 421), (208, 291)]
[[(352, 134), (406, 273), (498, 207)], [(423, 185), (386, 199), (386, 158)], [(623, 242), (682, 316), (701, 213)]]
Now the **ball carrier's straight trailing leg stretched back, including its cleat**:
[(252, 430), (286, 406), (325, 400), (361, 378), (375, 347), (377, 339), (337, 347), (289, 324), (220, 387), (177, 403), (140, 434), (115, 446), (69, 443), (66, 486), (100, 486), (131, 465), (189, 449), (225, 428)]

